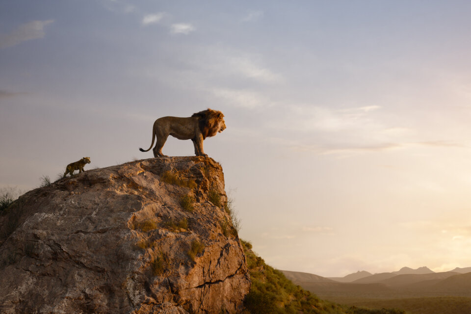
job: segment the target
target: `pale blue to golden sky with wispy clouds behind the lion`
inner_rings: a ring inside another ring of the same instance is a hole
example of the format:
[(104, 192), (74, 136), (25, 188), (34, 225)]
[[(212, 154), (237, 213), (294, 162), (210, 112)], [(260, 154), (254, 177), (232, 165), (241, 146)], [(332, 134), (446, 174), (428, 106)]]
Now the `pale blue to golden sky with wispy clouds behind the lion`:
[[(471, 266), (471, 2), (0, 0), (0, 188), (212, 108), (239, 236), (320, 276)], [(169, 156), (191, 156), (169, 138)]]

